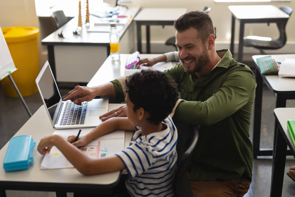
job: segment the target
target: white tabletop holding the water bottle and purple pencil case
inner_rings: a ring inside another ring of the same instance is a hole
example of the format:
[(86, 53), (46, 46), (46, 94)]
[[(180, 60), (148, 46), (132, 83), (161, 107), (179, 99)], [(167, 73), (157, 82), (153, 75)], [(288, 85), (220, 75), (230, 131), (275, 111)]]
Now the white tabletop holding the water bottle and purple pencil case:
[[(154, 58), (163, 54), (140, 54), (140, 58)], [(110, 56), (106, 58), (104, 64), (99, 68), (96, 74), (92, 77), (87, 87), (93, 87), (101, 84), (108, 83), (120, 76), (124, 76), (125, 64), (127, 57), (130, 54), (121, 54), (120, 61), (114, 62), (111, 60)], [(173, 65), (175, 65), (173, 63)]]

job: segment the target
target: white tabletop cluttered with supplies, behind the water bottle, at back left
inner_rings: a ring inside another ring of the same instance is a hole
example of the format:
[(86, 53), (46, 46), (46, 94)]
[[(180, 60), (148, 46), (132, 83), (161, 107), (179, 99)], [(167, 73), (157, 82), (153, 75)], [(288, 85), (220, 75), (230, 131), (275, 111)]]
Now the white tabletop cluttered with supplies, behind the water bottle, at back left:
[[(118, 25), (118, 30), (120, 37), (126, 31), (130, 23), (132, 22), (133, 17), (139, 11), (139, 7), (128, 7), (125, 13), (122, 15), (127, 16), (127, 23), (122, 28)], [(128, 18), (131, 16), (131, 20), (128, 21)], [(121, 19), (119, 19), (121, 20)], [(89, 17), (90, 25), (82, 25), (82, 30), (79, 30), (80, 35), (74, 35), (73, 31), (78, 27), (78, 17), (74, 17), (64, 26), (60, 27), (55, 32), (48, 35), (42, 40), (42, 44), (55, 43), (55, 44), (65, 44), (65, 43), (83, 43), (89, 45), (107, 45), (109, 43), (109, 32), (88, 32), (87, 29), (94, 28), (95, 23), (101, 23), (101, 18), (94, 17), (90, 15)], [(121, 25), (120, 25), (121, 26)], [(58, 34), (62, 31), (63, 37), (58, 37)]]

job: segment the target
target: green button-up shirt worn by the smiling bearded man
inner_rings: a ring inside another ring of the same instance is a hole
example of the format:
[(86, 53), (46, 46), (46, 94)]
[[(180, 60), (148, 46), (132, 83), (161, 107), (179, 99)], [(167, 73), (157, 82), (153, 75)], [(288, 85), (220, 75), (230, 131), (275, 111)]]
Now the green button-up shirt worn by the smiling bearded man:
[[(209, 73), (186, 74), (182, 63), (164, 71), (186, 100), (179, 103), (175, 123), (199, 125), (191, 159), (191, 180), (252, 178), (253, 146), (249, 139), (256, 82), (253, 72), (236, 62), (229, 50), (217, 51), (221, 61)], [(124, 98), (115, 80), (116, 97)]]

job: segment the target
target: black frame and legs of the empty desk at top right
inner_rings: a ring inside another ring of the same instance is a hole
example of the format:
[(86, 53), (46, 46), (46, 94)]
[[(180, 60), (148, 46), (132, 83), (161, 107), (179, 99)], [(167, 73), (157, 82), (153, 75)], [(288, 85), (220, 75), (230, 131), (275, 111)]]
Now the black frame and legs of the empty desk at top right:
[[(230, 39), (230, 51), (234, 54), (234, 40), (235, 40), (235, 17), (232, 14), (232, 36)], [(262, 18), (262, 19), (238, 19), (240, 20), (240, 34), (239, 34), (239, 49), (237, 61), (241, 62), (243, 58), (243, 45), (244, 45), (244, 28), (245, 23), (273, 23), (273, 22), (284, 22), (289, 18)]]

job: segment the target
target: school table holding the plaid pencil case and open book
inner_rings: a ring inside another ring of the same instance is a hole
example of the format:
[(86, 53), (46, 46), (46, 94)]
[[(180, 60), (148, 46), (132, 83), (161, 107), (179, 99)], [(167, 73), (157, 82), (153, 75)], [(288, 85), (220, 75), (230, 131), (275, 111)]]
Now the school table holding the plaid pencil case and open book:
[[(273, 149), (260, 149), (260, 128), (261, 128), (261, 108), (262, 108), (262, 91), (263, 81), (276, 97), (276, 108), (285, 108), (286, 100), (295, 99), (295, 79), (294, 77), (279, 77), (277, 74), (264, 75), (261, 74), (256, 59), (267, 55), (252, 56), (256, 64), (255, 79), (257, 87), (255, 90), (254, 102), (254, 125), (253, 125), (253, 156), (273, 155)], [(278, 62), (282, 62), (284, 58), (295, 58), (295, 54), (271, 55)], [(275, 121), (274, 139), (276, 138), (277, 121)], [(275, 147), (273, 147), (275, 148)], [(288, 151), (288, 154), (290, 152)]]

